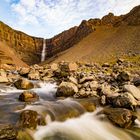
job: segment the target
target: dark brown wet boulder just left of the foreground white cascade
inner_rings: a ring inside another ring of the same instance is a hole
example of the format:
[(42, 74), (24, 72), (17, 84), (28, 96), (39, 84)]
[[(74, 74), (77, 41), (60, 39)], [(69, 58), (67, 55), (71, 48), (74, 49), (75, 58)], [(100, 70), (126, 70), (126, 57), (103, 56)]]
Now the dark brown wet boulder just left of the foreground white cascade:
[(36, 111), (25, 110), (21, 112), (18, 125), (21, 128), (36, 129), (37, 125), (45, 125), (45, 119), (39, 115)]

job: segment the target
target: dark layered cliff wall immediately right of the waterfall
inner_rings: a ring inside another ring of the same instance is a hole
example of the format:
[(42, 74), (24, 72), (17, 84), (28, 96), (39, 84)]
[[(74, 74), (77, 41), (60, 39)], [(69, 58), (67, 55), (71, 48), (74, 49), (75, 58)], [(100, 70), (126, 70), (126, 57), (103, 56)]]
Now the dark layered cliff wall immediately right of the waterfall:
[(73, 27), (61, 34), (46, 40), (46, 59), (64, 51), (94, 31), (94, 28), (83, 21), (79, 27)]

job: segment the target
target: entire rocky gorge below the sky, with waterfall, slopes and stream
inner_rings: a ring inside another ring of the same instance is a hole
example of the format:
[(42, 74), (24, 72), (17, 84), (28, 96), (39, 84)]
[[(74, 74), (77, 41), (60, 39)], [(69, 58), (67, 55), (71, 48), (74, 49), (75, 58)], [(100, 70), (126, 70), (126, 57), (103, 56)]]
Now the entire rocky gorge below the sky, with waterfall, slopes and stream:
[(45, 39), (0, 22), (0, 140), (139, 140), (140, 6)]

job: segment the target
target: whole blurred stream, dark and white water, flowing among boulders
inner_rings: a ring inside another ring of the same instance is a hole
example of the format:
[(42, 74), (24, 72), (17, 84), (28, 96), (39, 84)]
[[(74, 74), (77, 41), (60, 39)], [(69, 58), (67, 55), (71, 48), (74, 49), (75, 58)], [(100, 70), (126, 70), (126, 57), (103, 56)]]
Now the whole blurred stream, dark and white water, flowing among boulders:
[[(47, 121), (46, 126), (38, 126), (37, 130), (31, 133), (34, 140), (140, 139), (140, 136), (135, 134), (133, 130), (131, 132), (134, 133), (129, 133), (124, 129), (113, 126), (108, 121), (102, 120), (101, 116), (97, 115), (100, 108), (93, 113), (88, 113), (80, 103), (95, 103), (94, 99), (57, 99), (55, 97), (57, 90), (55, 84), (42, 82), (36, 82), (35, 84), (40, 86), (40, 88), (33, 89), (39, 95), (40, 100), (29, 105), (18, 101), (18, 97), (23, 90), (0, 85), (0, 123), (16, 124), (20, 112), (30, 109), (40, 114), (46, 114)], [(136, 128), (140, 130), (139, 126)]]

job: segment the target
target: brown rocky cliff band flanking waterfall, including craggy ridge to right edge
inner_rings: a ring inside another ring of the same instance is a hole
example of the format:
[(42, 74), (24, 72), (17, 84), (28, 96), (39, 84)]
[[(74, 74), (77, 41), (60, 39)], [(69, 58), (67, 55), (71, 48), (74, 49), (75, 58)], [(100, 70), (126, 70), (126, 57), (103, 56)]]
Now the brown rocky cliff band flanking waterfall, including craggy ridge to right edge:
[[(58, 53), (77, 45), (85, 37), (96, 32), (99, 28), (102, 29), (102, 27), (105, 27), (106, 30), (115, 30), (115, 28), (121, 26), (125, 28), (125, 26), (136, 25), (140, 25), (140, 6), (135, 7), (126, 15), (115, 16), (109, 13), (102, 19), (83, 20), (79, 26), (66, 30), (53, 38), (46, 39), (45, 59), (48, 60), (53, 56), (55, 57)], [(14, 54), (27, 64), (40, 63), (43, 38), (29, 36), (13, 30), (0, 22), (0, 41), (11, 47)]]

